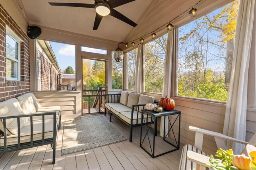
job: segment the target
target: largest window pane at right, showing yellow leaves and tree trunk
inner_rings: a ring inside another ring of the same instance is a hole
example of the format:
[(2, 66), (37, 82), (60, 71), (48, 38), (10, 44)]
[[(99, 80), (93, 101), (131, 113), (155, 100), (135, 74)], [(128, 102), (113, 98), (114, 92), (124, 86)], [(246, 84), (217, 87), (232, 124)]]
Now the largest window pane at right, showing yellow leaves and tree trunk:
[(178, 31), (178, 96), (226, 101), (239, 0)]

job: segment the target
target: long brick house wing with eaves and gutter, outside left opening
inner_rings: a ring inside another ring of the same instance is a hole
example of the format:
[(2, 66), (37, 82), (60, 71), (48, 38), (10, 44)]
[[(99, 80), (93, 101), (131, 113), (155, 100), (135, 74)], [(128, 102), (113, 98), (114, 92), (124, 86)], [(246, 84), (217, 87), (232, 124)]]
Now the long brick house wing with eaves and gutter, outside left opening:
[(48, 41), (36, 40), (37, 91), (58, 90), (60, 67)]

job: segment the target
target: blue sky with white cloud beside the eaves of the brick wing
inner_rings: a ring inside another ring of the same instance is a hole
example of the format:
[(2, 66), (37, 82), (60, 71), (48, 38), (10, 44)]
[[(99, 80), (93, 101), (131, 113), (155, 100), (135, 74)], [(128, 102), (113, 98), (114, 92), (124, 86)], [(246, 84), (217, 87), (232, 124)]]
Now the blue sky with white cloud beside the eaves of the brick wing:
[(76, 69), (76, 47), (64, 43), (50, 42), (52, 50), (58, 61), (61, 70), (65, 70), (68, 66)]

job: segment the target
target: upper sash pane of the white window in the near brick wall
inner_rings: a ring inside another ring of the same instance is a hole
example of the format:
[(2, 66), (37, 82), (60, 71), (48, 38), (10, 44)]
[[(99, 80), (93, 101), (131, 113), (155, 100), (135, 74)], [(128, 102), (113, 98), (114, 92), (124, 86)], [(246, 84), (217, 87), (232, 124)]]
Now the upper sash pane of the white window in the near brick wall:
[(18, 43), (6, 34), (6, 57), (18, 60)]

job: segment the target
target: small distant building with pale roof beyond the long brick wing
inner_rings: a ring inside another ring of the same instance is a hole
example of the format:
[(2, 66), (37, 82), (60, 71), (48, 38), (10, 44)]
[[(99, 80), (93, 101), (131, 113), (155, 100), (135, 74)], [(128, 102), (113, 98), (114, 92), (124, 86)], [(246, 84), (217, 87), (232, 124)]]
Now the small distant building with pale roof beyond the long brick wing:
[(76, 90), (76, 74), (59, 74), (61, 86), (67, 86), (68, 90)]

